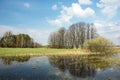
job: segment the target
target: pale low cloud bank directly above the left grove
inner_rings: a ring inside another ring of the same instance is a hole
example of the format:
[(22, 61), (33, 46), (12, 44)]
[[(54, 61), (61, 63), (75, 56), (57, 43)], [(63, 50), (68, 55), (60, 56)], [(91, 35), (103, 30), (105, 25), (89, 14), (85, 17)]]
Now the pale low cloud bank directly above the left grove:
[(41, 31), (38, 29), (21, 29), (15, 26), (0, 25), (0, 37), (6, 32), (12, 31), (13, 34), (24, 33), (30, 35), (34, 41), (42, 44), (47, 44), (50, 31)]

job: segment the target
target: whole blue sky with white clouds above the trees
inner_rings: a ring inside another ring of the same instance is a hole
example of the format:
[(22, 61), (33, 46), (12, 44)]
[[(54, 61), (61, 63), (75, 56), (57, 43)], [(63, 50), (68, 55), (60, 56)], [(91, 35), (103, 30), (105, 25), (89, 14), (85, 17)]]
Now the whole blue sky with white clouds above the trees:
[(94, 23), (97, 32), (120, 45), (120, 0), (0, 0), (0, 36), (29, 34), (48, 44), (48, 36), (73, 23)]

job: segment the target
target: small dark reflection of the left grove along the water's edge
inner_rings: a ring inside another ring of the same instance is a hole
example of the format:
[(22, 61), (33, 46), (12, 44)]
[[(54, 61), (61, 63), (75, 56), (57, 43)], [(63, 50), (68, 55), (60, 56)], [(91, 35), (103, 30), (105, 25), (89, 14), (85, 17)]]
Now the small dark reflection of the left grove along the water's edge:
[(3, 63), (5, 65), (10, 65), (12, 61), (18, 61), (18, 62), (25, 62), (30, 59), (30, 56), (7, 56), (7, 57), (1, 57), (3, 60)]

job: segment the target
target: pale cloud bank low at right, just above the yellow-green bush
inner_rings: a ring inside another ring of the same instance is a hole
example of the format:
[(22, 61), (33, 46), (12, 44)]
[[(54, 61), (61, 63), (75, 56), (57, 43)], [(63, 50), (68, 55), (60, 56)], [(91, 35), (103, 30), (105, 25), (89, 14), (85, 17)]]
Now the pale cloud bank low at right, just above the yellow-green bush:
[(111, 41), (113, 41), (115, 44), (119, 44), (119, 39), (120, 37), (120, 22), (95, 22), (94, 23), (97, 32), (101, 35), (104, 36)]

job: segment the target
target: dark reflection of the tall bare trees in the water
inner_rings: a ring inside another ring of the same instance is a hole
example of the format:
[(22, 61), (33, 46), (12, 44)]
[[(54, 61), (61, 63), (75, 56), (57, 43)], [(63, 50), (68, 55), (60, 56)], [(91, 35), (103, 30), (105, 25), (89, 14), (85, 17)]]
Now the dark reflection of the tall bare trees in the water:
[(94, 77), (96, 74), (93, 66), (90, 66), (77, 58), (51, 56), (49, 57), (49, 61), (60, 70), (68, 70), (72, 75), (77, 77)]

